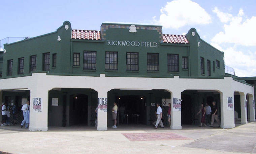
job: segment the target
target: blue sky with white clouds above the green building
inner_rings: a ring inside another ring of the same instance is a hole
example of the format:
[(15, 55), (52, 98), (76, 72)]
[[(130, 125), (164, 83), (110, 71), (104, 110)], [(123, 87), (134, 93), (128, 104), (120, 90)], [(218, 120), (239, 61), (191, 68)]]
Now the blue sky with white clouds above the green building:
[(202, 40), (225, 53), (225, 65), (234, 68), (236, 76), (256, 76), (255, 0), (2, 0), (0, 4), (0, 40), (50, 33), (66, 20), (72, 29), (100, 30), (102, 22), (132, 22), (162, 25), (163, 34), (178, 35), (194, 27)]

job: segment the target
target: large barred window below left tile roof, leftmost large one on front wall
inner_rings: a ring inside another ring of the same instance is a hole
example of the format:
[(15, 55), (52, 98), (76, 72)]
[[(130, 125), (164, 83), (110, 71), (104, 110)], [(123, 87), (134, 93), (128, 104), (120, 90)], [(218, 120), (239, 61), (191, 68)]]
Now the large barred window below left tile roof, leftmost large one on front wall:
[(96, 51), (84, 51), (84, 70), (96, 70)]

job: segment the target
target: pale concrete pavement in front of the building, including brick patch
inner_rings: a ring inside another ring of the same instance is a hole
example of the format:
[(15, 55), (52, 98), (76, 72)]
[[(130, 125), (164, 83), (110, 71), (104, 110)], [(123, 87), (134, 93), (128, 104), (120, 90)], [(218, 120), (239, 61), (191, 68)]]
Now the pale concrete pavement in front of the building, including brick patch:
[(95, 127), (50, 127), (48, 132), (9, 126), (0, 127), (0, 139), (0, 151), (13, 154), (256, 153), (256, 123), (233, 129), (130, 126), (96, 131)]

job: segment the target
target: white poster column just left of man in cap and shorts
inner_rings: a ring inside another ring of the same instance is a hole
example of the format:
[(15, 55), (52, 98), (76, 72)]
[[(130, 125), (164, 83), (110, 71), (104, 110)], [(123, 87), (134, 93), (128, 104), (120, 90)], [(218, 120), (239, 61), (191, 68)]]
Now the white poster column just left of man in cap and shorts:
[(98, 92), (98, 131), (107, 130), (107, 90), (99, 89)]

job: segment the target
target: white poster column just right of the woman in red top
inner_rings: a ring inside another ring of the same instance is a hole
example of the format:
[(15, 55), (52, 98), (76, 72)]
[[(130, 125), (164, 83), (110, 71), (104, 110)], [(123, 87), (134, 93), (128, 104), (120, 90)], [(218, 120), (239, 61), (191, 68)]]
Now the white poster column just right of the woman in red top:
[(172, 91), (171, 92), (171, 129), (178, 130), (181, 128), (182, 128), (181, 127), (181, 91)]

